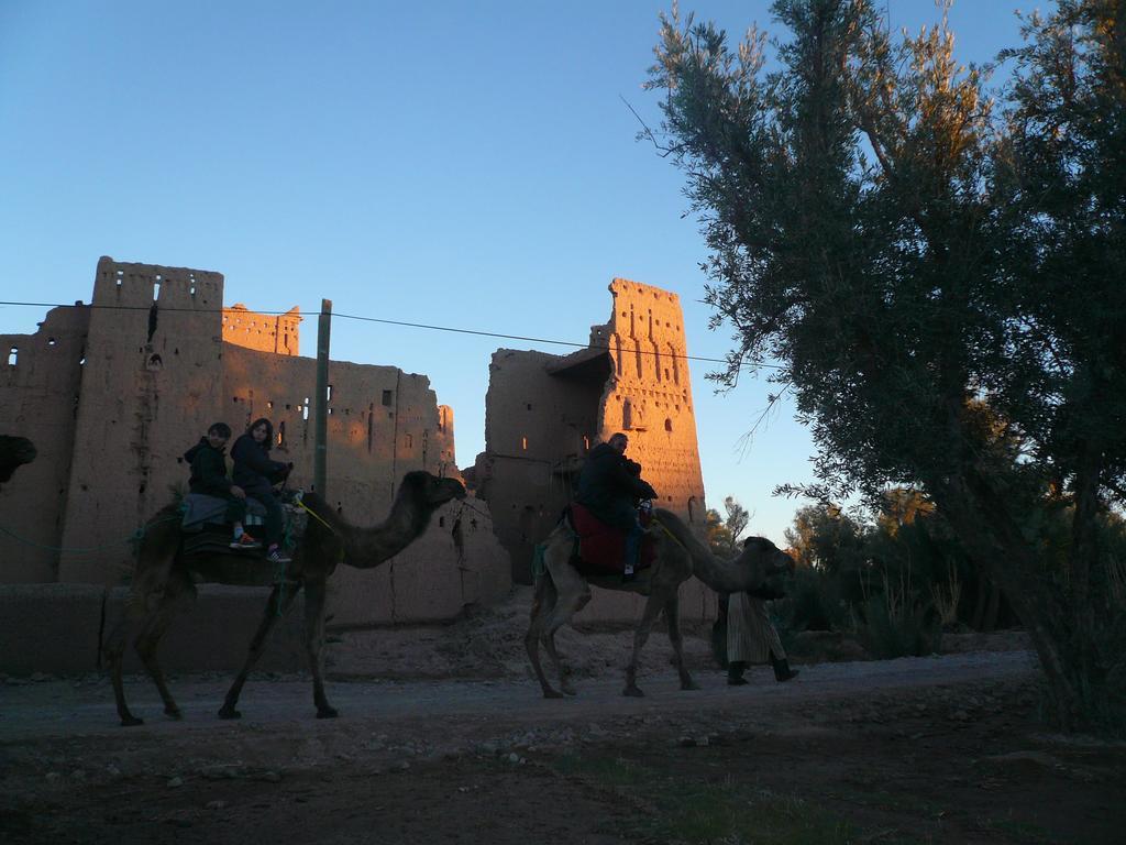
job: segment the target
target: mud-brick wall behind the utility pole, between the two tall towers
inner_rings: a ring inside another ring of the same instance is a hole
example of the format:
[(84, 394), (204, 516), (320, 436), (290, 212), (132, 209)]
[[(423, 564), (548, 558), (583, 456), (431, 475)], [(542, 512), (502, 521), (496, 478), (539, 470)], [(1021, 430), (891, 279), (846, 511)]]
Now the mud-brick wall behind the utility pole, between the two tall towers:
[[(227, 346), (224, 416), (235, 430), (258, 417), (275, 426), (272, 456), (292, 461), (291, 483), (311, 488), (316, 362)], [(457, 477), (453, 411), (438, 406), (425, 375), (397, 367), (329, 364), (328, 490), (330, 502), (356, 525), (386, 518), (399, 480), (411, 470)], [(341, 567), (329, 582), (334, 625), (449, 619), (466, 604), (488, 604), (508, 592), (503, 551), (488, 512), (463, 521), (464, 548), (454, 544), (457, 504), (435, 515), (430, 531), (373, 571)]]

